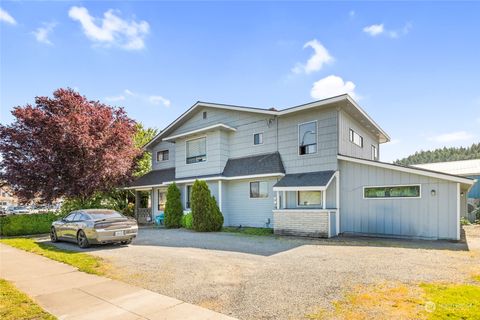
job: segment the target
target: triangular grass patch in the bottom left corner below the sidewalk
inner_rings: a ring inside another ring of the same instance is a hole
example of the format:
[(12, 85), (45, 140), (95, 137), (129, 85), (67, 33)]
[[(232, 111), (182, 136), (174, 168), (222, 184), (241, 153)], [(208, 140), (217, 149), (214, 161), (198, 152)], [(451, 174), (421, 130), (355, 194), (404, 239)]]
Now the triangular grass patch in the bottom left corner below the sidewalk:
[(26, 294), (10, 282), (0, 279), (0, 319), (2, 320), (54, 320)]

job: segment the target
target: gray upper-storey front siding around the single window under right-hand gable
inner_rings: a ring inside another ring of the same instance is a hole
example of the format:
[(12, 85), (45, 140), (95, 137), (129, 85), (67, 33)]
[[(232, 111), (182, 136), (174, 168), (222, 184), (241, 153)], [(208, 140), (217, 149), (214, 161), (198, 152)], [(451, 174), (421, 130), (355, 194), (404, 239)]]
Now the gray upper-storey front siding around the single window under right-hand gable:
[[(317, 121), (317, 153), (298, 154), (298, 125)], [(337, 110), (310, 110), (280, 117), (278, 150), (287, 173), (337, 169)]]

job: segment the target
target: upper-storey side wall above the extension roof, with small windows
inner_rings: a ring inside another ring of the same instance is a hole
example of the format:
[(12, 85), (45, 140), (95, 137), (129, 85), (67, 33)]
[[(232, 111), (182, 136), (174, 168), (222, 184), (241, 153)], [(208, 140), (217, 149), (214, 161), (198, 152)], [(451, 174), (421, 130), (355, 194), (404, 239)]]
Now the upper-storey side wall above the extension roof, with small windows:
[[(373, 160), (371, 146), (374, 145), (377, 147), (378, 156), (380, 157), (378, 139), (372, 133), (365, 130), (363, 125), (357, 120), (354, 120), (345, 111), (340, 110), (338, 115), (339, 153), (346, 156)], [(353, 129), (353, 131), (363, 137), (363, 148), (350, 142), (350, 129)]]

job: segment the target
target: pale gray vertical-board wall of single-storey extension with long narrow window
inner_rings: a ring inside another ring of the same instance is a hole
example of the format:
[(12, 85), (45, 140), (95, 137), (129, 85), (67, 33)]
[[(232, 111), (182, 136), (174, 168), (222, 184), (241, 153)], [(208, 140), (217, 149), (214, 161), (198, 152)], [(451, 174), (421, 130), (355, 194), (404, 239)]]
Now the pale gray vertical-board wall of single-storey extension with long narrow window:
[[(363, 199), (364, 186), (401, 184), (420, 184), (421, 198)], [(455, 239), (456, 190), (454, 182), (340, 161), (340, 232)]]

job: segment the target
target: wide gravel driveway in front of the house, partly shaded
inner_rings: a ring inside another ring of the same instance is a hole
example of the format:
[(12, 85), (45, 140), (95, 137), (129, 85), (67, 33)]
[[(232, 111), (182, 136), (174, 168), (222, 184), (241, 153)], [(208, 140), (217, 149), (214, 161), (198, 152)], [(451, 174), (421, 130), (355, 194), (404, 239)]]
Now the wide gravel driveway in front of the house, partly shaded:
[(298, 319), (330, 307), (359, 284), (466, 281), (480, 265), (480, 255), (468, 247), (480, 249), (479, 242), (141, 229), (130, 246), (89, 251), (109, 260), (122, 280), (161, 294), (240, 319)]

